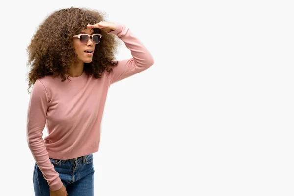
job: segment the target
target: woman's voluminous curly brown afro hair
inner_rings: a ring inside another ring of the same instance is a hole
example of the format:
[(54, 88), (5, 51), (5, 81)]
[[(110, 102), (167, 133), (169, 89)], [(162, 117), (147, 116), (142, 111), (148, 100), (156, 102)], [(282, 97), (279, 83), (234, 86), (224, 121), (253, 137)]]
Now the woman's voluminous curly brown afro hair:
[[(71, 7), (53, 12), (41, 23), (27, 47), (27, 66), (31, 66), (28, 92), (38, 78), (46, 75), (60, 75), (62, 82), (66, 80), (70, 65), (76, 61), (73, 35), (79, 34), (88, 24), (104, 21), (103, 15), (97, 10)], [(114, 54), (119, 42), (113, 34), (101, 29), (93, 30), (100, 33), (102, 39), (95, 47), (92, 62), (84, 63), (84, 71), (87, 75), (101, 78), (105, 70), (111, 72), (111, 67), (117, 65)]]

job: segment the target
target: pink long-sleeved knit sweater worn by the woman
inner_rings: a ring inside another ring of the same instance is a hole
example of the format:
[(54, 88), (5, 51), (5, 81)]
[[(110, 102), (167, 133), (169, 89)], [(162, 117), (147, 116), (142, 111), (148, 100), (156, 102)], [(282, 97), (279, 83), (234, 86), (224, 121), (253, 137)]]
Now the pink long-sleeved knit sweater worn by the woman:
[[(130, 29), (120, 23), (115, 34), (130, 49), (132, 58), (119, 61), (113, 71), (95, 79), (85, 72), (61, 82), (61, 77), (37, 79), (31, 91), (27, 113), (27, 142), (47, 180), (50, 190), (63, 186), (49, 157), (72, 159), (98, 151), (100, 124), (107, 91), (111, 84), (146, 70), (153, 58)], [(47, 127), (48, 136), (42, 139)]]

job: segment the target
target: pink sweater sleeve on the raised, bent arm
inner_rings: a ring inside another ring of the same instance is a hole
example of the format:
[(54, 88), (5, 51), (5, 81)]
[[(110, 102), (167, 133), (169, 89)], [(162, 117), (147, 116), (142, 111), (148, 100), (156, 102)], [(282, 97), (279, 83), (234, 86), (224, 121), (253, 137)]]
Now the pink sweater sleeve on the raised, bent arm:
[(118, 64), (112, 67), (112, 72), (107, 76), (110, 84), (120, 81), (126, 77), (146, 70), (153, 65), (154, 60), (146, 47), (133, 35), (130, 29), (123, 24), (115, 23), (116, 30), (110, 31), (108, 34), (117, 35), (125, 46), (131, 51), (132, 58), (118, 61)]

